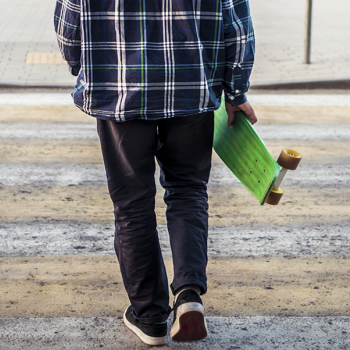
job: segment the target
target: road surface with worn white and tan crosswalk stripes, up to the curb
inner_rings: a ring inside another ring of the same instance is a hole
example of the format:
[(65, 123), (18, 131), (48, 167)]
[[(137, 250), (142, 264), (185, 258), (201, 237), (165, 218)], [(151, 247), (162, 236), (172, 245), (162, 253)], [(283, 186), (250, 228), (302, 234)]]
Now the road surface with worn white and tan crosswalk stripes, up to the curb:
[[(159, 349), (350, 349), (350, 95), (250, 99), (272, 156), (289, 147), (303, 160), (272, 207), (213, 155), (209, 336)], [(65, 91), (0, 93), (3, 350), (149, 348), (122, 322), (128, 299), (95, 124)]]

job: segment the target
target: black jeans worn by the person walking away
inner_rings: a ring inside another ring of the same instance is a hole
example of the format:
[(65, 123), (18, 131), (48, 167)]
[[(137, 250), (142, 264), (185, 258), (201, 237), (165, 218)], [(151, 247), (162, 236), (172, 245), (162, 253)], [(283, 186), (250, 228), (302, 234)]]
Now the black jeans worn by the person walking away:
[(97, 129), (114, 204), (114, 246), (134, 316), (142, 323), (163, 322), (170, 307), (154, 211), (154, 158), (167, 204), (171, 289), (196, 284), (204, 294), (214, 113), (123, 123), (98, 119)]

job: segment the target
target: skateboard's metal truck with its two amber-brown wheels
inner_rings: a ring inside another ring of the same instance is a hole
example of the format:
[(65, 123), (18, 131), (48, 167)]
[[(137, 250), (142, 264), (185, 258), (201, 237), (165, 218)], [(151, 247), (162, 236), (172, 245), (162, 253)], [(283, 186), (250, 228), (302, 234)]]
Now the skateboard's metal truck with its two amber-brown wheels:
[(272, 190), (266, 199), (267, 204), (277, 205), (283, 196), (283, 190), (280, 185), (287, 174), (288, 170), (295, 170), (301, 161), (301, 155), (297, 151), (284, 148), (277, 159), (278, 165), (281, 167), (279, 175), (272, 186)]

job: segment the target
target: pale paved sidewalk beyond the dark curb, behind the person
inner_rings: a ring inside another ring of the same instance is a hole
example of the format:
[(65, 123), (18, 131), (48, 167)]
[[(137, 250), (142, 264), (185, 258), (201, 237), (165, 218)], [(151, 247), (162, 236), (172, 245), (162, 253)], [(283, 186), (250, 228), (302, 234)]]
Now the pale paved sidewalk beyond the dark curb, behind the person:
[[(350, 79), (350, 2), (314, 1), (312, 64), (303, 64), (306, 0), (250, 0), (256, 33), (252, 86)], [(0, 0), (0, 85), (72, 87), (64, 64), (26, 63), (58, 53), (54, 0)], [(47, 59), (46, 59), (47, 60)], [(39, 62), (39, 61), (38, 61)]]

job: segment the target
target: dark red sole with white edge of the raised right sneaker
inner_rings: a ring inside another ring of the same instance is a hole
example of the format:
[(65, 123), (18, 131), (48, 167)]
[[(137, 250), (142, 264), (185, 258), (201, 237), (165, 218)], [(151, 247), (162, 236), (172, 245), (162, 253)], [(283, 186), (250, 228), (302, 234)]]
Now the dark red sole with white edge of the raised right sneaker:
[(195, 341), (204, 339), (208, 328), (204, 318), (204, 307), (199, 303), (180, 305), (176, 311), (176, 320), (170, 332), (174, 341)]

